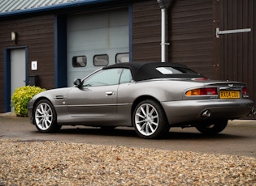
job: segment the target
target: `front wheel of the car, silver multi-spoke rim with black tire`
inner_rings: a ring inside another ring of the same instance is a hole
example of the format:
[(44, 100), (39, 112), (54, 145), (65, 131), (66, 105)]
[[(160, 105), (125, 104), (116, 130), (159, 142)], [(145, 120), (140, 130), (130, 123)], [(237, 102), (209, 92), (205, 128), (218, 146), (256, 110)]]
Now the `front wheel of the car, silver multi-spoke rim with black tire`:
[(33, 124), (41, 133), (55, 133), (61, 128), (57, 125), (54, 106), (46, 99), (40, 100), (33, 110)]

